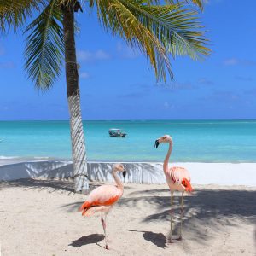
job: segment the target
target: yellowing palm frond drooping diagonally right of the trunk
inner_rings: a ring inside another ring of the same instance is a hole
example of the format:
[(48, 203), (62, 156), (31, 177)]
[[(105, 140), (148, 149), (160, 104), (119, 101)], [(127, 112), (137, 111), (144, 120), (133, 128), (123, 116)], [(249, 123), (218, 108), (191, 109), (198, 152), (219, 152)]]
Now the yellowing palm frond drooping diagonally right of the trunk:
[(131, 47), (138, 47), (148, 56), (157, 79), (166, 80), (166, 69), (171, 78), (172, 69), (166, 49), (137, 16), (119, 0), (97, 2), (98, 17), (102, 25), (113, 35), (124, 38)]

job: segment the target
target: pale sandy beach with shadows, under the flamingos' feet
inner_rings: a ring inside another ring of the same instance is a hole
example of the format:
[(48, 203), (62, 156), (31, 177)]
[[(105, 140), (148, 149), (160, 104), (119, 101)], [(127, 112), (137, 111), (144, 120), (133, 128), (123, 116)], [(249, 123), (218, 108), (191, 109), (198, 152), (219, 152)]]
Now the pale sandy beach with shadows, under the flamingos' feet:
[[(102, 183), (92, 183), (93, 189)], [(100, 217), (82, 218), (85, 195), (64, 181), (0, 183), (0, 243), (7, 255), (255, 255), (256, 187), (194, 185), (185, 197), (183, 241), (166, 244), (170, 192), (166, 184), (125, 184), (108, 215), (111, 250)], [(175, 230), (178, 224), (175, 197)]]

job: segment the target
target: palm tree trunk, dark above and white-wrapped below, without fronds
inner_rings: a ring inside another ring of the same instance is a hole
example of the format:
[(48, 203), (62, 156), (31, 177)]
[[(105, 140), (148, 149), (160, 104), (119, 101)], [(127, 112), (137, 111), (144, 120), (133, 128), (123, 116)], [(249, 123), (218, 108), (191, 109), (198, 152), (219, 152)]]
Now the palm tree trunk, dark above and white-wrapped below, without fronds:
[(75, 192), (89, 189), (84, 130), (80, 108), (79, 73), (74, 39), (74, 13), (72, 6), (63, 8), (67, 100), (70, 113), (70, 131), (73, 155), (73, 177)]

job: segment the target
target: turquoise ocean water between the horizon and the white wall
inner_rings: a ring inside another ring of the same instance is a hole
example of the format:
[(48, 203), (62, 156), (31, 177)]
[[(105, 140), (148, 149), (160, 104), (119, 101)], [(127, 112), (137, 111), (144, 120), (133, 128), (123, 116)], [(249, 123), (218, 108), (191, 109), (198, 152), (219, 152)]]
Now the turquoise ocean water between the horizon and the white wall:
[[(84, 133), (88, 160), (163, 161), (167, 144), (154, 141), (170, 134), (172, 161), (256, 162), (256, 120), (84, 121)], [(0, 159), (11, 157), (71, 159), (68, 121), (1, 121)]]

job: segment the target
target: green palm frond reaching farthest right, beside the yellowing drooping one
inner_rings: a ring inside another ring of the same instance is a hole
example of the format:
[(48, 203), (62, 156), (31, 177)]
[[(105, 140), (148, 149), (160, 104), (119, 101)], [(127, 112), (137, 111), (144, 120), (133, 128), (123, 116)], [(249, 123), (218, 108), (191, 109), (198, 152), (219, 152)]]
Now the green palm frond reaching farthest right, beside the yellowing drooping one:
[(144, 0), (119, 2), (131, 9), (174, 57), (189, 55), (192, 59), (199, 59), (209, 54), (203, 26), (196, 19), (197, 12), (183, 8), (183, 3), (148, 6)]

